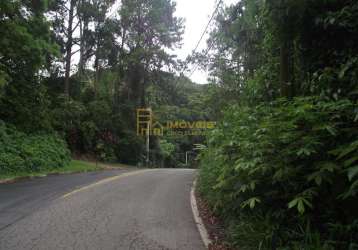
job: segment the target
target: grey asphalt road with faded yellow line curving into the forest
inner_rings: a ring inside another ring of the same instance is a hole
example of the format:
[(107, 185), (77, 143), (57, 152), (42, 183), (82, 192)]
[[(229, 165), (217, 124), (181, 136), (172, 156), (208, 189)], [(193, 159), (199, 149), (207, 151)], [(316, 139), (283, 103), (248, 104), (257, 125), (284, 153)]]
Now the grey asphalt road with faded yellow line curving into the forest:
[(205, 249), (185, 169), (118, 170), (0, 185), (0, 249)]

